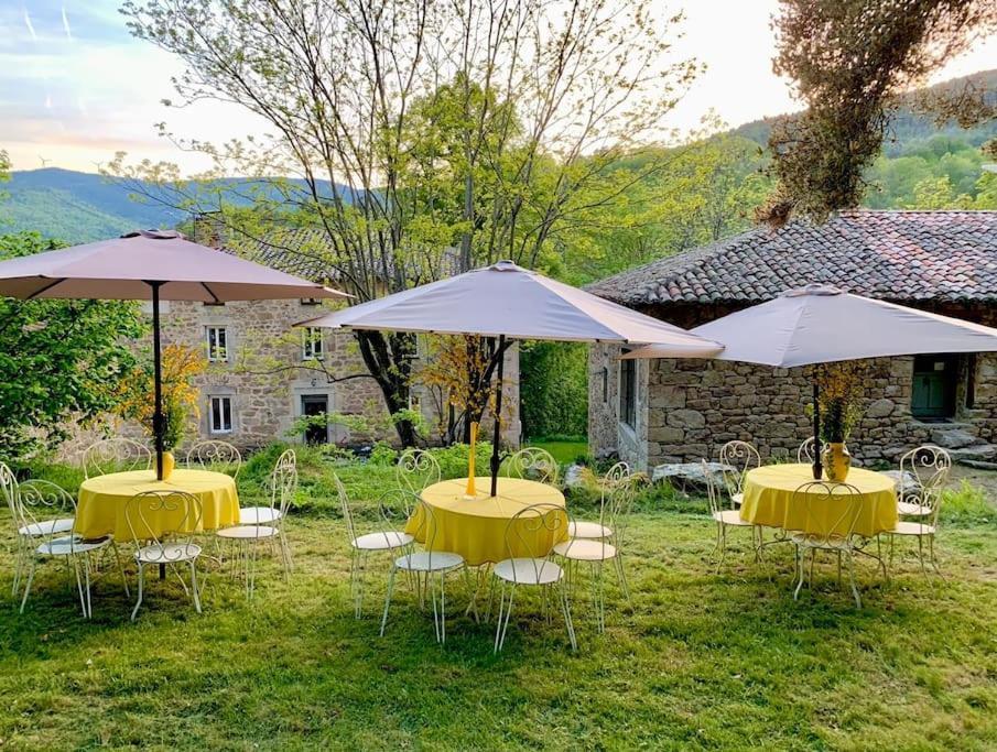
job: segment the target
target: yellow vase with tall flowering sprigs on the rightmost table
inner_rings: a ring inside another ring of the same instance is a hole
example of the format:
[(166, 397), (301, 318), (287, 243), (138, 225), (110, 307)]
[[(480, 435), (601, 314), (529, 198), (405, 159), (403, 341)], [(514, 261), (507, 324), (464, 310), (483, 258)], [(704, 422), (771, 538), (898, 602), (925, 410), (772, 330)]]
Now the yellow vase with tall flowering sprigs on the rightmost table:
[(833, 482), (844, 482), (852, 468), (852, 455), (845, 442), (861, 418), (861, 381), (858, 361), (826, 363), (816, 369), (820, 386), (821, 461), (824, 475)]

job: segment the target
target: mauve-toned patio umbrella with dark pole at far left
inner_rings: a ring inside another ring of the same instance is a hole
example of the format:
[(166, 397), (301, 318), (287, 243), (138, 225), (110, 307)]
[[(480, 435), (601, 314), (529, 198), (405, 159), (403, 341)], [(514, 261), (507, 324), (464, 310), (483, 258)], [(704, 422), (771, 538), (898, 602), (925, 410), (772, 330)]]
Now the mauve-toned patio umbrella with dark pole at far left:
[(30, 301), (152, 301), (156, 476), (163, 477), (160, 301), (264, 301), (348, 297), (172, 230), (139, 230), (94, 243), (0, 261), (0, 295)]

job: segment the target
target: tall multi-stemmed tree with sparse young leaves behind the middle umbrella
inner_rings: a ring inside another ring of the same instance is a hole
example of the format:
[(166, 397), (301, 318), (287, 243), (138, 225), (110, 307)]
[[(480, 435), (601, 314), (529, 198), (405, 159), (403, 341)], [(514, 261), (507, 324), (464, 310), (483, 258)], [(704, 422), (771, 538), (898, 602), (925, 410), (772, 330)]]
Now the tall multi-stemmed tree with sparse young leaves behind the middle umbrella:
[[(273, 129), (185, 148), (210, 155), (215, 174), (302, 179), (262, 181), (260, 222), (237, 229), (259, 235), (293, 207), (357, 302), (451, 271), (448, 247), (458, 269), (553, 263), (560, 232), (640, 179), (608, 177), (622, 153), (662, 137), (698, 69), (670, 58), (680, 17), (653, 18), (648, 0), (148, 0), (123, 12), (186, 64), (185, 102), (235, 102)], [(159, 177), (177, 198), (175, 170), (126, 174)], [(413, 337), (356, 337), (399, 412)], [(414, 443), (409, 422), (398, 431)]]

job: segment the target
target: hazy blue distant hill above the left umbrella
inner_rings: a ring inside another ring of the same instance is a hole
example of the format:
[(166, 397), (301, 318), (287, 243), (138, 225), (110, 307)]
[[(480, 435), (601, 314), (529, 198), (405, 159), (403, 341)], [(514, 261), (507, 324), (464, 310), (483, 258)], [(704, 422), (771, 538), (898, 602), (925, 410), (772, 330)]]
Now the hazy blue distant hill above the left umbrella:
[[(241, 177), (223, 183), (241, 195), (259, 186), (258, 181)], [(329, 184), (323, 185), (328, 192)], [(187, 219), (185, 212), (155, 201), (136, 200), (129, 187), (102, 175), (59, 167), (14, 172), (0, 190), (9, 194), (0, 203), (0, 232), (36, 230), (69, 243), (113, 237), (137, 228), (175, 227)]]

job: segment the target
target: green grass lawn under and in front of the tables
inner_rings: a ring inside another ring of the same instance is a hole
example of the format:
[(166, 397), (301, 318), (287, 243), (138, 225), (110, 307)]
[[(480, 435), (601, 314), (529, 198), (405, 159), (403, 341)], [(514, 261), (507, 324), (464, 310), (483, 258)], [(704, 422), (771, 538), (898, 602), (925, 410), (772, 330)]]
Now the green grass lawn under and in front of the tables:
[[(390, 477), (344, 475), (358, 494)], [(633, 515), (633, 602), (609, 588), (605, 635), (579, 592), (572, 654), (563, 624), (524, 598), (497, 656), (494, 624), (463, 615), (457, 579), (445, 646), (404, 589), (378, 636), (386, 569), (375, 567), (355, 620), (330, 504), (292, 517), (290, 582), (265, 562), (248, 604), (239, 582), (212, 574), (202, 615), (175, 579), (153, 582), (137, 623), (110, 576), (84, 621), (52, 564), (18, 615), (2, 510), (2, 748), (997, 748), (993, 519), (943, 530), (943, 582), (925, 581), (911, 558), (889, 585), (861, 564), (856, 610), (830, 563), (816, 592), (793, 602), (785, 549), (762, 569), (735, 541), (716, 574), (702, 510), (644, 504)]]

